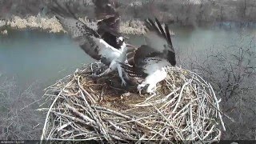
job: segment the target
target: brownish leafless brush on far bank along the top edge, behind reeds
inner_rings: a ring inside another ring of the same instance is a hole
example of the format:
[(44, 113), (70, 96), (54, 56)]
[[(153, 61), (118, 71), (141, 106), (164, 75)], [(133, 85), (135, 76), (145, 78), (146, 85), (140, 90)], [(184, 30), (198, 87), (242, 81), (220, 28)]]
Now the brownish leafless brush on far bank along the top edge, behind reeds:
[[(78, 17), (94, 18), (91, 0), (70, 1), (72, 10)], [(194, 26), (205, 22), (255, 22), (256, 3), (254, 0), (112, 0), (122, 20), (158, 17), (162, 22), (178, 22)], [(26, 17), (45, 13), (52, 16), (45, 2), (49, 0), (0, 0), (0, 18), (12, 15)], [(60, 1), (63, 2), (63, 1)]]

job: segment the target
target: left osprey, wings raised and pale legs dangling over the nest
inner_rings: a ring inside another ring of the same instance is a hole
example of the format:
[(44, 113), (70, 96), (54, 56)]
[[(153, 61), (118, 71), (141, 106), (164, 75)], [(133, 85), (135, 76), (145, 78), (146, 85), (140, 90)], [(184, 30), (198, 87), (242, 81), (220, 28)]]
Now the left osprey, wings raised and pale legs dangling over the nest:
[[(93, 0), (95, 13), (101, 20), (97, 23), (98, 30), (90, 29), (85, 23), (78, 20), (75, 14), (67, 5), (62, 6), (54, 1), (55, 5), (50, 5), (52, 10), (62, 24), (63, 28), (71, 35), (75, 42), (89, 54), (91, 58), (100, 60), (108, 68), (102, 74), (94, 74), (94, 77), (101, 77), (118, 69), (118, 75), (122, 80), (122, 85), (126, 85), (123, 78), (122, 67), (118, 62), (126, 61), (126, 42), (124, 37), (118, 32), (120, 17), (114, 6), (108, 0)], [(124, 74), (126, 76), (126, 74)], [(126, 76), (127, 77), (127, 76)]]

